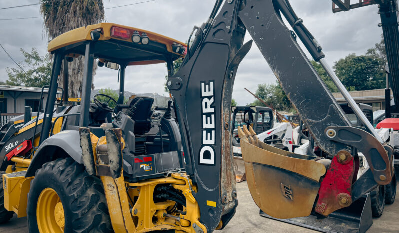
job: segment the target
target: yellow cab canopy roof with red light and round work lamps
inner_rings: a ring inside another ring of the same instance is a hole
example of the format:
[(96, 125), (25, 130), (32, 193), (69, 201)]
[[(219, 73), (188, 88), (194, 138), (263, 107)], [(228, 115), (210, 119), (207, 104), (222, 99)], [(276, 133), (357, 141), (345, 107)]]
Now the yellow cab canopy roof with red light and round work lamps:
[(98, 23), (80, 27), (54, 38), (48, 52), (78, 57), (92, 41), (94, 58), (125, 65), (156, 64), (184, 57), (187, 45), (178, 40), (134, 27)]

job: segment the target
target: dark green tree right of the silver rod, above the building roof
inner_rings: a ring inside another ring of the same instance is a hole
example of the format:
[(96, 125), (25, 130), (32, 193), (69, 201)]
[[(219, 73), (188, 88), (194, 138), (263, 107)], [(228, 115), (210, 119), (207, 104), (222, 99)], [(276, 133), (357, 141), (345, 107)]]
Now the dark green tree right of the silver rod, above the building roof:
[(371, 55), (352, 53), (335, 62), (334, 69), (348, 90), (380, 89), (385, 86), (381, 60)]

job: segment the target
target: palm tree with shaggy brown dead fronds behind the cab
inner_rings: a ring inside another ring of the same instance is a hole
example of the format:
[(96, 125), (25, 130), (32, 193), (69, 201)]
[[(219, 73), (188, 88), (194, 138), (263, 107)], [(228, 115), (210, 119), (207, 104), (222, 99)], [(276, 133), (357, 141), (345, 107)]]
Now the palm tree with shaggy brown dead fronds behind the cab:
[[(44, 16), (45, 31), (49, 40), (72, 29), (102, 22), (105, 18), (102, 0), (41, 0), (40, 13)], [(82, 91), (84, 58), (69, 63), (69, 96), (80, 97)], [(94, 64), (93, 75), (97, 65)], [(63, 87), (61, 80), (59, 86)], [(92, 85), (94, 88), (94, 85)]]

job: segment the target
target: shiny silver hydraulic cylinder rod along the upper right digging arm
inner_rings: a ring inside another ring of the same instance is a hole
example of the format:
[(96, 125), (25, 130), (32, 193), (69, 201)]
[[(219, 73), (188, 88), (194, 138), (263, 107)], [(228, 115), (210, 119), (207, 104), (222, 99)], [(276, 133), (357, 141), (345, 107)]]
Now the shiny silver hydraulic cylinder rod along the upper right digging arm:
[(320, 59), (319, 62), (324, 67), (324, 69), (328, 73), (328, 75), (331, 77), (331, 79), (335, 83), (336, 87), (338, 87), (339, 91), (342, 93), (343, 97), (345, 98), (345, 100), (347, 101), (349, 106), (352, 108), (352, 110), (356, 114), (356, 116), (361, 120), (361, 122), (363, 122), (363, 124), (367, 127), (367, 129), (371, 132), (371, 134), (375, 138), (377, 138), (377, 140), (380, 143), (385, 143), (381, 139), (381, 137), (378, 135), (378, 133), (375, 131), (375, 129), (372, 126), (372, 124), (370, 123), (370, 121), (368, 121), (367, 117), (363, 114), (363, 112), (361, 111), (360, 107), (357, 106), (356, 102), (353, 100), (352, 96), (346, 90), (345, 86), (343, 86), (342, 82), (336, 76), (335, 72), (332, 70), (332, 68), (325, 61), (325, 58)]

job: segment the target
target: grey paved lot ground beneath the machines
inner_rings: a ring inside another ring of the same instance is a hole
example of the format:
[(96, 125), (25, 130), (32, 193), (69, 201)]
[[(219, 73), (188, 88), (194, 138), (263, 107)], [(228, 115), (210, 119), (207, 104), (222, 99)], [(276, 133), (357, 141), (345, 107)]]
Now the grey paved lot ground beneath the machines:
[[(315, 232), (259, 216), (259, 208), (250, 196), (246, 181), (237, 183), (237, 193), (239, 205), (235, 216), (224, 230), (218, 232)], [(1, 232), (27, 232), (26, 218), (12, 218), (0, 226)], [(394, 204), (385, 206), (384, 214), (380, 218), (373, 219), (373, 225), (368, 232), (399, 232), (399, 199)]]

